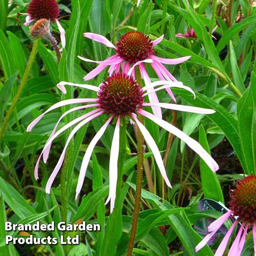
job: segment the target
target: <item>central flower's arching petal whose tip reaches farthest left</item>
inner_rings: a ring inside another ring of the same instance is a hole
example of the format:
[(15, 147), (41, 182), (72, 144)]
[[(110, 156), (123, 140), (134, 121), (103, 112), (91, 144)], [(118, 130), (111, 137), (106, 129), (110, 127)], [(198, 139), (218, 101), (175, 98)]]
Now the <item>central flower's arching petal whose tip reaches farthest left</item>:
[(88, 102), (95, 102), (96, 99), (86, 99), (86, 98), (81, 98), (81, 99), (71, 99), (71, 100), (64, 100), (64, 101), (59, 101), (58, 103), (55, 103), (52, 105), (46, 112), (38, 116), (34, 121), (32, 121), (28, 127), (27, 127), (27, 132), (31, 132), (32, 128), (42, 119), (42, 117), (49, 113), (51, 110), (55, 110), (59, 107), (65, 106), (65, 105), (70, 105), (70, 104), (78, 104), (78, 103), (88, 103)]

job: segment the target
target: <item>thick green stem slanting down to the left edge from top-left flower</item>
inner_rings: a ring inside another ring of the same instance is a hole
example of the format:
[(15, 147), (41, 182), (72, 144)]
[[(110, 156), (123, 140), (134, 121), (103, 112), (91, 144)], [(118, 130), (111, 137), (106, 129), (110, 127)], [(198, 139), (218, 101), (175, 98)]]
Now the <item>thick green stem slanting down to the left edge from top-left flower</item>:
[(0, 141), (4, 135), (4, 132), (5, 132), (5, 128), (8, 124), (8, 121), (9, 121), (9, 118), (11, 117), (12, 113), (13, 113), (13, 110), (18, 102), (18, 99), (19, 99), (19, 96), (24, 88), (24, 86), (26, 85), (26, 82), (27, 82), (27, 79), (29, 77), (29, 74), (30, 74), (30, 71), (32, 69), (32, 65), (34, 63), (34, 60), (36, 58), (36, 55), (37, 55), (37, 50), (38, 50), (38, 46), (39, 46), (39, 39), (36, 39), (33, 43), (33, 47), (32, 47), (32, 51), (30, 53), (30, 56), (29, 56), (29, 59), (28, 59), (28, 62), (27, 62), (27, 67), (25, 69), (25, 72), (24, 72), (24, 75), (23, 75), (23, 78), (22, 78), (22, 81), (18, 87), (18, 91), (14, 97), (14, 100), (12, 102), (12, 105), (9, 107), (9, 110), (7, 111), (7, 114), (5, 116), (5, 119), (2, 123), (2, 126), (1, 126), (1, 129), (0, 129)]

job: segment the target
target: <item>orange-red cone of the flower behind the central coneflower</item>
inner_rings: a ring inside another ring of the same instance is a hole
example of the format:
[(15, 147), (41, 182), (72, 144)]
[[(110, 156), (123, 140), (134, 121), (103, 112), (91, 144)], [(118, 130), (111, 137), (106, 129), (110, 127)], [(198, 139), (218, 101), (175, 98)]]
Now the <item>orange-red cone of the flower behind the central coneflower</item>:
[(131, 64), (148, 59), (154, 52), (153, 42), (142, 32), (128, 32), (116, 44), (116, 53)]

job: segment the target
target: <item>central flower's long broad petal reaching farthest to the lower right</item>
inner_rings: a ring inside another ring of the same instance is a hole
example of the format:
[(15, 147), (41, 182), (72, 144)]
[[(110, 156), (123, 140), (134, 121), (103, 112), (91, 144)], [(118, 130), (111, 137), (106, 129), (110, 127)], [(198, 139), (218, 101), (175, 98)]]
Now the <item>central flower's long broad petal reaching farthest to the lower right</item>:
[(162, 128), (167, 130), (169, 133), (173, 133), (175, 136), (183, 140), (193, 151), (195, 151), (201, 158), (206, 162), (206, 164), (210, 167), (212, 171), (216, 171), (219, 169), (219, 165), (215, 162), (215, 160), (207, 153), (207, 151), (194, 139), (187, 136), (186, 133), (183, 133), (178, 128), (173, 126), (166, 121), (155, 117), (153, 114), (145, 111), (145, 110), (138, 110), (138, 113), (146, 116), (147, 118), (151, 119)]

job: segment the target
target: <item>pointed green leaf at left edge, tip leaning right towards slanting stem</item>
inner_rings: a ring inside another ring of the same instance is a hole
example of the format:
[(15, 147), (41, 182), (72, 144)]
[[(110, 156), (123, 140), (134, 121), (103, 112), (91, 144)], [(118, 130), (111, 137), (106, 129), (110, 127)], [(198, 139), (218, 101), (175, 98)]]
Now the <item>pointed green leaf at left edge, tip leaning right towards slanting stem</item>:
[(9, 101), (9, 97), (11, 96), (11, 92), (13, 91), (14, 83), (18, 76), (18, 72), (14, 73), (4, 84), (2, 89), (0, 90), (0, 122), (2, 122), (4, 118), (4, 112), (6, 105)]

